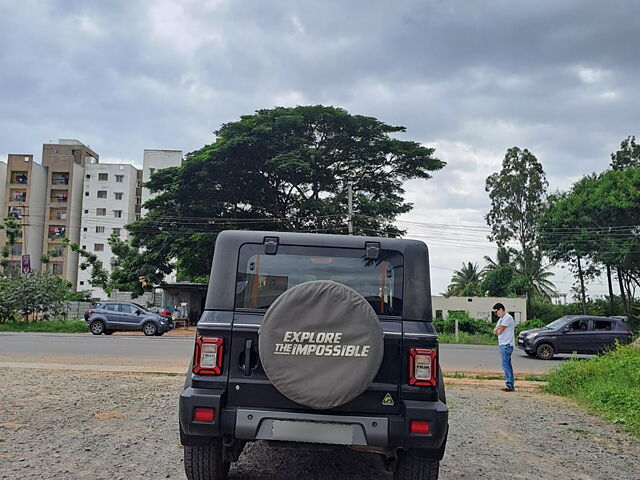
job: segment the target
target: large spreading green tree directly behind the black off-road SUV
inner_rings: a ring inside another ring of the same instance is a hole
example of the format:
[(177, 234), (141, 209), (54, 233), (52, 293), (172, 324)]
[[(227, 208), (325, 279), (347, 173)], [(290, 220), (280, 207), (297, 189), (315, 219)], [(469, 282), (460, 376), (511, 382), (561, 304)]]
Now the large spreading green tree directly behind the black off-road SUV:
[(400, 140), (404, 127), (326, 106), (259, 110), (223, 125), (214, 143), (162, 170), (157, 194), (130, 225), (133, 248), (156, 272), (208, 275), (224, 229), (347, 233), (348, 189), (356, 234), (398, 236), (412, 205), (403, 183), (445, 163), (434, 149)]

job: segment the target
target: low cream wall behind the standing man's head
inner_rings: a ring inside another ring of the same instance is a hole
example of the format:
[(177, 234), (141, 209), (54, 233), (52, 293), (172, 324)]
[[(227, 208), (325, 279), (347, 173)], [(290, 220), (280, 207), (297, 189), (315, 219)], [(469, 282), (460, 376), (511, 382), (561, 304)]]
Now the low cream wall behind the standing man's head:
[(491, 310), (496, 303), (502, 303), (516, 323), (527, 321), (526, 298), (501, 297), (440, 297), (432, 296), (433, 318), (447, 317), (452, 311), (465, 311), (473, 318), (491, 320)]

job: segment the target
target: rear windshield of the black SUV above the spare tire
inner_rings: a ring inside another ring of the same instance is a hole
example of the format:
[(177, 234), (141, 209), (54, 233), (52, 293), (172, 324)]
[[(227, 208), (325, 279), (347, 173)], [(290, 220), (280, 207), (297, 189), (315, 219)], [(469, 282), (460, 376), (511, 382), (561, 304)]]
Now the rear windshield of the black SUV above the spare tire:
[(264, 245), (240, 249), (236, 308), (265, 310), (287, 289), (312, 280), (333, 280), (356, 290), (378, 315), (402, 315), (403, 260), (381, 250), (377, 260), (364, 250), (281, 245), (265, 255)]

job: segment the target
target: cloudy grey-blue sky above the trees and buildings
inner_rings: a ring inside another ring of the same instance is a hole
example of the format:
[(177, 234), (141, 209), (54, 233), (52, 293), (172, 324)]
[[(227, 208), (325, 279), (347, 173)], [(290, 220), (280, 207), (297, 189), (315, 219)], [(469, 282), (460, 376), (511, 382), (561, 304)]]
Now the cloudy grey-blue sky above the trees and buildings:
[(448, 164), (407, 185), (399, 222), (429, 243), (439, 293), (494, 256), (484, 179), (507, 148), (566, 189), (640, 135), (638, 45), (632, 0), (0, 0), (0, 160), (75, 138), (139, 166), (276, 105), (404, 125)]

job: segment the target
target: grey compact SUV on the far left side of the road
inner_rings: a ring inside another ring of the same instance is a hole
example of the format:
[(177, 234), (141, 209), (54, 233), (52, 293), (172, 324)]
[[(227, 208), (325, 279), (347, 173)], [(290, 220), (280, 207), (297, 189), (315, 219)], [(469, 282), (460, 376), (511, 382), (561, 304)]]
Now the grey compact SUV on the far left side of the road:
[(87, 310), (84, 319), (94, 335), (138, 330), (145, 335), (162, 335), (169, 330), (169, 320), (132, 302), (100, 302)]

